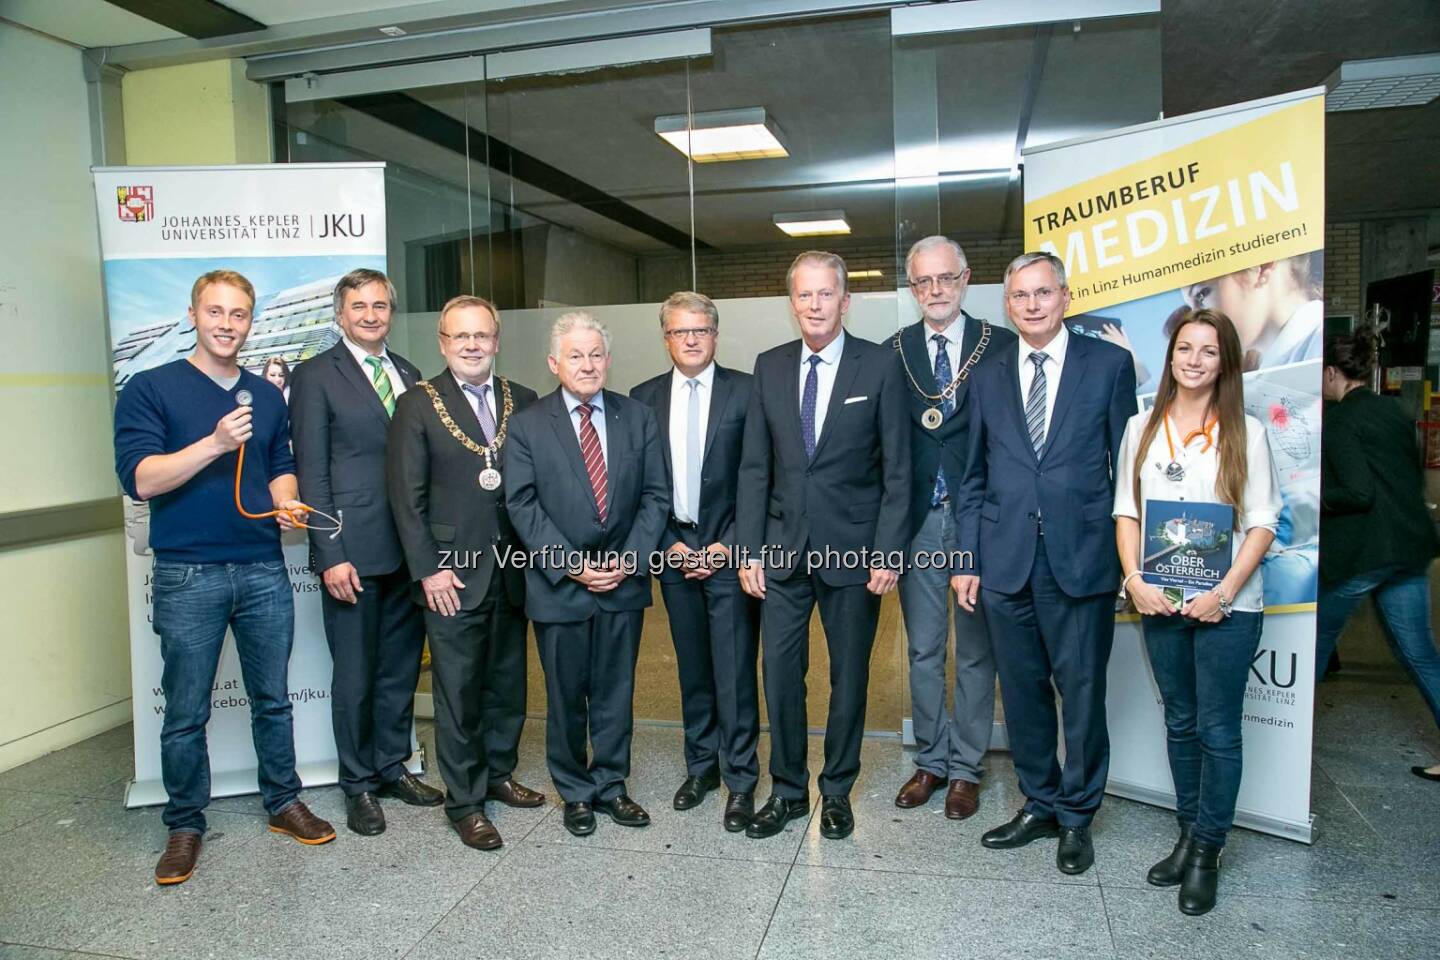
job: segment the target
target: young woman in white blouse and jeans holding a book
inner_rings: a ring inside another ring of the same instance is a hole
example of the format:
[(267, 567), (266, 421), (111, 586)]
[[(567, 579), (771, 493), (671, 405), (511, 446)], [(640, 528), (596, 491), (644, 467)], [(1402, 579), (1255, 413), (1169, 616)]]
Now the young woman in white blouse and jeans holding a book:
[[(1246, 416), (1241, 371), (1240, 338), (1224, 314), (1194, 309), (1181, 318), (1155, 406), (1126, 425), (1115, 485), (1122, 589), (1142, 615), (1165, 701), (1179, 818), (1175, 849), (1146, 879), (1179, 884), (1179, 908), (1191, 915), (1215, 905), (1220, 852), (1234, 822), (1246, 678), (1264, 616), (1259, 567), (1280, 517), (1270, 443), (1264, 426)], [(1146, 501), (1234, 508), (1230, 571), (1178, 610), (1140, 576)]]

